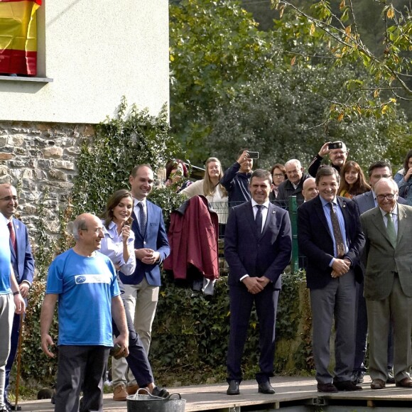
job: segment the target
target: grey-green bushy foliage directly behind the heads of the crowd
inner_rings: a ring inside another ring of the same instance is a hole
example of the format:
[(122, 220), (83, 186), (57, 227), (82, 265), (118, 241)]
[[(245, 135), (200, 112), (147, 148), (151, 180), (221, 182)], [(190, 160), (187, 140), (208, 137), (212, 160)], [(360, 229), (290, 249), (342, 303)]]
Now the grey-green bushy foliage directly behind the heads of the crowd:
[(384, 156), (397, 164), (393, 148), (408, 136), (401, 112), (379, 119), (358, 114), (325, 121), (333, 102), (345, 98), (347, 79), (355, 74), (367, 84), (362, 71), (352, 67), (302, 65), (256, 76), (239, 87), (229, 104), (215, 109), (205, 146), (226, 165), (233, 163), (237, 148), (248, 147), (260, 152), (256, 166), (269, 168), (290, 158), (306, 166), (325, 141), (342, 140), (350, 150), (349, 158), (364, 168)]

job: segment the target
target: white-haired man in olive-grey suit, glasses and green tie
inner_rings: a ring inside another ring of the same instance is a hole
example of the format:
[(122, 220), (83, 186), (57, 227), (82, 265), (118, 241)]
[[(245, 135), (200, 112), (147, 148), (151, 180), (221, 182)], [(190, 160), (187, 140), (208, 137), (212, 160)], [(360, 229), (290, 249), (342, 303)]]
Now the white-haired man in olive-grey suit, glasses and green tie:
[(378, 207), (361, 215), (366, 238), (364, 297), (369, 325), (369, 374), (372, 389), (383, 389), (388, 333), (394, 325), (396, 386), (412, 388), (412, 207), (400, 205), (398, 185), (382, 178), (374, 187)]

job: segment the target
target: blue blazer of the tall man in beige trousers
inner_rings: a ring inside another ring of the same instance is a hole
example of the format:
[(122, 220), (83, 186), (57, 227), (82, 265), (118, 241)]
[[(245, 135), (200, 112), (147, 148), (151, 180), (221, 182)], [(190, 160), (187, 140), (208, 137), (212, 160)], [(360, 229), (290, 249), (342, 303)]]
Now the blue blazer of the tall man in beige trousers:
[(134, 249), (148, 248), (158, 251), (161, 254), (161, 261), (147, 265), (136, 259), (136, 270), (131, 276), (125, 276), (120, 272), (120, 280), (125, 285), (139, 285), (143, 278), (151, 286), (161, 286), (161, 271), (159, 265), (169, 256), (170, 246), (168, 235), (166, 233), (165, 223), (163, 221), (162, 210), (152, 202), (146, 200), (147, 206), (147, 227), (146, 235), (143, 239), (136, 215), (132, 212), (133, 222), (131, 229), (134, 232)]

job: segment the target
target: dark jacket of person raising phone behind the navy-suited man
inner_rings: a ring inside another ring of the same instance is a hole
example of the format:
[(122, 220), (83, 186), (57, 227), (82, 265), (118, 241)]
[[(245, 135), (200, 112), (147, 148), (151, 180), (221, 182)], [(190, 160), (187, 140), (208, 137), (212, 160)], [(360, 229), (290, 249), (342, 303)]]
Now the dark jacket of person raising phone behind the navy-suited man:
[(251, 173), (241, 173), (239, 169), (239, 163), (235, 162), (224, 172), (224, 176), (220, 180), (220, 183), (227, 190), (229, 207), (251, 200), (249, 191)]

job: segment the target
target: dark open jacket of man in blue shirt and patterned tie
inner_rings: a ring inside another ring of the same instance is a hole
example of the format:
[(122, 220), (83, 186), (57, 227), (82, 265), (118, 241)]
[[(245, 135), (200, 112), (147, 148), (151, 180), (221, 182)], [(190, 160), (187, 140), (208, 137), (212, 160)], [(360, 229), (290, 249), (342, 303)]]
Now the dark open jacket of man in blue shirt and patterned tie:
[[(337, 202), (345, 219), (345, 232), (349, 250), (347, 256), (353, 264), (357, 281), (362, 281), (362, 268), (359, 256), (365, 239), (359, 222), (357, 206), (346, 197), (337, 197)], [(308, 259), (306, 283), (308, 288), (320, 289), (332, 280), (329, 266), (334, 257), (333, 234), (330, 233), (323, 212), (320, 197), (309, 200), (298, 207), (298, 244), (299, 250)]]

